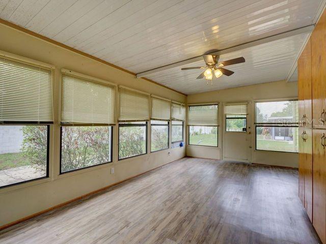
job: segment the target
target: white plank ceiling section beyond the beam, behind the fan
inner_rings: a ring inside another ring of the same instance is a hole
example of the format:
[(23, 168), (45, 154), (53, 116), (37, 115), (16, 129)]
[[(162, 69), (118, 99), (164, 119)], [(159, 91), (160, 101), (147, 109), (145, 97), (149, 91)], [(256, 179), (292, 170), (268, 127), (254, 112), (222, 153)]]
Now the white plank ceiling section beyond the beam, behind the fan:
[(205, 66), (204, 61), (165, 70), (147, 77), (173, 89), (182, 90), (185, 94), (285, 80), (298, 55), (298, 50), (308, 35), (296, 35), (221, 55), (221, 61), (243, 56), (246, 58), (246, 63), (225, 67), (235, 73), (229, 77), (223, 75), (220, 78), (214, 78), (213, 85), (210, 82), (206, 85), (205, 79), (196, 79), (203, 71), (201, 69), (180, 70), (188, 66)]

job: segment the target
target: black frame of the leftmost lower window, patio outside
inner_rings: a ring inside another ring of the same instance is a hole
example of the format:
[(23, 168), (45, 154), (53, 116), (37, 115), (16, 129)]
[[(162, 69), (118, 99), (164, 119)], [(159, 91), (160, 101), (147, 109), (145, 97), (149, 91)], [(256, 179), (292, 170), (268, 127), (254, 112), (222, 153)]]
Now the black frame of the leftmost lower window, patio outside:
[(47, 129), (47, 138), (46, 138), (46, 175), (43, 177), (35, 178), (35, 179), (29, 179), (29, 180), (24, 180), (21, 182), (16, 182), (10, 185), (6, 186), (1, 186), (0, 189), (4, 188), (9, 188), (17, 185), (22, 185), (24, 183), (32, 182), (32, 181), (37, 181), (40, 179), (46, 179), (49, 178), (49, 153), (50, 153), (50, 124), (43, 122), (43, 123), (35, 123), (34, 121), (5, 121), (2, 126), (46, 126)]

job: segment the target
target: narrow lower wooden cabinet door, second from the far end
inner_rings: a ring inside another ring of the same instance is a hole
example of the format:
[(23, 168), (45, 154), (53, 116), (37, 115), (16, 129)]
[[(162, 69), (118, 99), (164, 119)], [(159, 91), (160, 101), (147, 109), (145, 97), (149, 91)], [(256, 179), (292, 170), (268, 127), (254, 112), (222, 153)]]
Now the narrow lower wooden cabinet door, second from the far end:
[(305, 156), (305, 208), (312, 222), (312, 130), (305, 130), (301, 139)]

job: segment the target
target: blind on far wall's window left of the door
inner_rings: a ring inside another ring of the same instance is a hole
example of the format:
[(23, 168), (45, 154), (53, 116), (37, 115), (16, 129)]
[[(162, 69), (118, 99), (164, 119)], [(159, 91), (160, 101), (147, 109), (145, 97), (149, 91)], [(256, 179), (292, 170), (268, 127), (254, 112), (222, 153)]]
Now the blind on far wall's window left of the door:
[(189, 126), (218, 126), (218, 105), (188, 106)]

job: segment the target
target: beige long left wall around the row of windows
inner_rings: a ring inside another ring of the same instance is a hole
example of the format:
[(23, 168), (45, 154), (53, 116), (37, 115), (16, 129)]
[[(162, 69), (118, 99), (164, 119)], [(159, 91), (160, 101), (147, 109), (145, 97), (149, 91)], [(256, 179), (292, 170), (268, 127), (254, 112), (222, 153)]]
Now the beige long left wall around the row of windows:
[[(185, 96), (2, 24), (0, 35), (0, 50), (56, 66), (55, 124), (50, 127), (50, 177), (1, 189), (0, 226), (185, 156), (185, 148), (177, 147), (117, 161), (118, 128), (115, 127), (113, 163), (59, 175), (60, 69), (69, 69), (179, 102), (185, 102)], [(110, 174), (111, 167), (115, 168), (114, 174)]]

